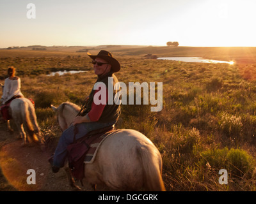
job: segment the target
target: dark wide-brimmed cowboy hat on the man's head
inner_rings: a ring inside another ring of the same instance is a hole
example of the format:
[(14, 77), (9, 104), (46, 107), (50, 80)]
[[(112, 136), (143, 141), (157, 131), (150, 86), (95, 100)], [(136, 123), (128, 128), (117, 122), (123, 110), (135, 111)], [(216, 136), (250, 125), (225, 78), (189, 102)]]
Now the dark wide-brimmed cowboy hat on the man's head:
[(119, 62), (113, 57), (113, 55), (110, 52), (106, 50), (100, 50), (100, 52), (97, 55), (91, 55), (89, 52), (87, 52), (87, 54), (93, 60), (99, 57), (100, 59), (104, 59), (105, 61), (109, 62), (109, 64), (111, 64), (111, 71), (113, 72), (118, 72), (120, 70)]

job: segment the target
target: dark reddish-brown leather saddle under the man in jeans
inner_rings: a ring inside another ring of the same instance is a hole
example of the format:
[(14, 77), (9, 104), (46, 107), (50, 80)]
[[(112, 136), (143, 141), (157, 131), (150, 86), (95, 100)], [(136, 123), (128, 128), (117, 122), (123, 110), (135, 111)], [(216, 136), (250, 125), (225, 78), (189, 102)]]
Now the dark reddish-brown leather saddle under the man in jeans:
[[(68, 166), (71, 170), (72, 176), (77, 180), (82, 180), (84, 178), (84, 161), (86, 160), (86, 154), (88, 152), (93, 152), (96, 154), (95, 145), (99, 144), (102, 139), (106, 136), (111, 135), (116, 130), (114, 126), (108, 126), (106, 128), (97, 129), (95, 131), (90, 131), (82, 138), (76, 140), (76, 133), (74, 136), (74, 142), (68, 145)], [(92, 155), (89, 156), (92, 159)]]

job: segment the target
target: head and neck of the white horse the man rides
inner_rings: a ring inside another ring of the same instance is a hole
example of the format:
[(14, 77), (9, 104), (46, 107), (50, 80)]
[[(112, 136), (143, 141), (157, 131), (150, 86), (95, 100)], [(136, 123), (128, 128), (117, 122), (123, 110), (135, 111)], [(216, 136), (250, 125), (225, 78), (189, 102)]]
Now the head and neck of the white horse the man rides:
[(63, 131), (72, 124), (74, 118), (80, 110), (79, 106), (70, 102), (61, 103), (58, 108), (54, 105), (51, 105), (51, 108), (54, 110), (54, 112), (56, 112), (57, 121)]

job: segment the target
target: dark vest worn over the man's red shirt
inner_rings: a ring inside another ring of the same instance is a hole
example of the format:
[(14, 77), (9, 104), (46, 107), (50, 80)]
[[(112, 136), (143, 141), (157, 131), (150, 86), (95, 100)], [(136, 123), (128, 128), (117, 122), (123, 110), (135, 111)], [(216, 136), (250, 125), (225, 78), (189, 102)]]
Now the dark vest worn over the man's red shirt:
[[(113, 87), (115, 87), (115, 84), (118, 83), (118, 79), (114, 75), (114, 73), (109, 72), (104, 77), (98, 77), (97, 82), (103, 82), (106, 85), (106, 89), (108, 89), (108, 78), (113, 77)], [(97, 83), (96, 82), (96, 83)], [(113, 90), (113, 105), (109, 104), (109, 101), (107, 105), (104, 107), (104, 110), (102, 112), (102, 115), (100, 116), (100, 119), (97, 122), (107, 123), (107, 122), (116, 122), (118, 120), (118, 117), (121, 114), (121, 106), (116, 105), (114, 101), (115, 94), (120, 90)], [(84, 107), (82, 107), (81, 113), (79, 115), (84, 116), (87, 113), (90, 112), (92, 109), (92, 103), (93, 103), (93, 94), (95, 90), (92, 89), (89, 95), (89, 99)], [(108, 96), (107, 96), (108, 97)]]

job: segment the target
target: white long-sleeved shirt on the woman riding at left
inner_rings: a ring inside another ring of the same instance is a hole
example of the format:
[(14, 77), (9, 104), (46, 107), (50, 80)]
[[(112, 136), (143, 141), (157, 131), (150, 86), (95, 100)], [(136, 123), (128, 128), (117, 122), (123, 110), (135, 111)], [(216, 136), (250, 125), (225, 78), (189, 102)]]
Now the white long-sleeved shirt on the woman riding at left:
[(19, 95), (24, 97), (22, 92), (20, 91), (20, 78), (17, 77), (17, 80), (11, 80), (10, 78), (6, 78), (4, 81), (4, 90), (2, 96), (2, 103), (6, 103), (9, 99), (13, 98), (13, 96)]

